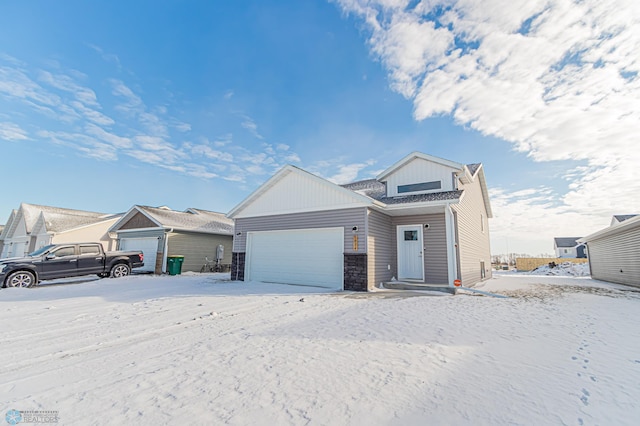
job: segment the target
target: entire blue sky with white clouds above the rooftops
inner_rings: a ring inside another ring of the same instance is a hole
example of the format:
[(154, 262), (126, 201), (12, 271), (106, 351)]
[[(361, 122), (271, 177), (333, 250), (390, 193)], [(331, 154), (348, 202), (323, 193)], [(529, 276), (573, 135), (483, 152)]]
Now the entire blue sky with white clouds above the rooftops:
[(20, 202), (226, 212), (290, 163), (485, 166), (494, 253), (640, 213), (633, 1), (0, 3), (0, 223)]

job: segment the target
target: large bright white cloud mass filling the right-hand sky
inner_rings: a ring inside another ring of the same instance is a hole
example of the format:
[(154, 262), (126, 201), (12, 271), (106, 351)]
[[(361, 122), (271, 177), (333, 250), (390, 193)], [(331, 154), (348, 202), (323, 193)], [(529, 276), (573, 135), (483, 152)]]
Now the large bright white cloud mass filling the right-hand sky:
[(450, 115), (535, 161), (586, 162), (567, 174), (557, 205), (502, 203), (513, 194), (499, 192), (494, 232), (516, 226), (514, 218), (539, 235), (545, 217), (555, 233), (640, 211), (639, 2), (336, 2), (366, 23), (372, 52), (392, 88), (413, 101), (416, 119)]

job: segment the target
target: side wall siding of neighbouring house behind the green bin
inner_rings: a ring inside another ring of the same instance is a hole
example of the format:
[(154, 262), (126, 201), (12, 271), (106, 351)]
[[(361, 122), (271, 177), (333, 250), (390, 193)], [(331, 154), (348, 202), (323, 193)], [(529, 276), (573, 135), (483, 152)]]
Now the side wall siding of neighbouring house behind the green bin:
[(169, 234), (167, 255), (184, 256), (182, 271), (200, 272), (205, 263), (205, 257), (215, 260), (216, 248), (219, 244), (224, 246), (223, 265), (231, 265), (231, 235), (212, 235), (190, 232), (175, 232)]

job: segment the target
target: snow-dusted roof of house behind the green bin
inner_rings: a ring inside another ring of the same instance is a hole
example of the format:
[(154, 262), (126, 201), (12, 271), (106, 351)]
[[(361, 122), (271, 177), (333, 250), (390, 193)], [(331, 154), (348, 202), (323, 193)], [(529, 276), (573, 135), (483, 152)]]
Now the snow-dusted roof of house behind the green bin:
[(233, 235), (233, 221), (223, 213), (212, 212), (202, 209), (189, 208), (184, 212), (171, 210), (166, 206), (133, 206), (118, 222), (111, 231), (119, 229), (120, 226), (129, 221), (137, 213), (146, 216), (159, 228), (176, 229), (182, 231), (203, 232), (208, 234)]

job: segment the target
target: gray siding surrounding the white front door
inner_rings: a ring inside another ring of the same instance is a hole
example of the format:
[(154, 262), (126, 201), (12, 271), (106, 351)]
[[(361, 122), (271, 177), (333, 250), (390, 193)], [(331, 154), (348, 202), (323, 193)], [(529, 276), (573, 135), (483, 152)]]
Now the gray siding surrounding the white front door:
[(447, 263), (447, 232), (444, 213), (419, 216), (396, 216), (391, 218), (391, 250), (392, 272), (398, 276), (398, 246), (396, 226), (398, 225), (425, 225), (429, 229), (424, 231), (424, 282), (428, 284), (449, 284)]

